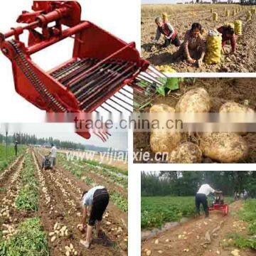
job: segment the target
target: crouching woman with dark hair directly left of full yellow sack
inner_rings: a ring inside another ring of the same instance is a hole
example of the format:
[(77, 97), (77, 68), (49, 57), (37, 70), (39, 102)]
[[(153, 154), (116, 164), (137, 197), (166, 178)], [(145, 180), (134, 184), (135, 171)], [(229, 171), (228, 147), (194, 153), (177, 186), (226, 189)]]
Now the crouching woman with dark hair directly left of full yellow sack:
[(200, 68), (206, 54), (206, 39), (203, 36), (203, 29), (200, 23), (193, 23), (191, 29), (186, 31), (185, 40), (174, 58), (186, 58), (190, 64), (196, 64)]

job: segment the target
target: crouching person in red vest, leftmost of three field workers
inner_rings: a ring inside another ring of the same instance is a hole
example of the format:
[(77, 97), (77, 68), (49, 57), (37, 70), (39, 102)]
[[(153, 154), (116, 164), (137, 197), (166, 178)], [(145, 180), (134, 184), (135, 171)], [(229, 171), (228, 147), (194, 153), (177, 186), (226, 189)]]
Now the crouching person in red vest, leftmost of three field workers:
[(163, 19), (160, 16), (156, 17), (155, 22), (156, 22), (157, 28), (156, 28), (155, 38), (154, 37), (151, 38), (153, 43), (156, 43), (157, 41), (159, 41), (162, 34), (165, 37), (163, 47), (167, 47), (170, 44), (173, 44), (176, 47), (181, 46), (181, 41), (178, 38), (178, 32), (173, 26), (171, 26), (169, 22), (163, 21)]

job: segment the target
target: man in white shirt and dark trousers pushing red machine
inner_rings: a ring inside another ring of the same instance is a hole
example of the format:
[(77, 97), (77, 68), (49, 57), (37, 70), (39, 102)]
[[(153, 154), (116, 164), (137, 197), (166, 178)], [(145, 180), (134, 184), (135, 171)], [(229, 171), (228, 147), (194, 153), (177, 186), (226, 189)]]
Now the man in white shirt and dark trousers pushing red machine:
[(206, 213), (206, 218), (209, 217), (207, 196), (210, 193), (222, 193), (222, 191), (215, 191), (215, 189), (211, 188), (210, 185), (203, 184), (196, 193), (196, 212), (198, 214), (200, 213), (200, 205), (202, 203), (203, 210)]

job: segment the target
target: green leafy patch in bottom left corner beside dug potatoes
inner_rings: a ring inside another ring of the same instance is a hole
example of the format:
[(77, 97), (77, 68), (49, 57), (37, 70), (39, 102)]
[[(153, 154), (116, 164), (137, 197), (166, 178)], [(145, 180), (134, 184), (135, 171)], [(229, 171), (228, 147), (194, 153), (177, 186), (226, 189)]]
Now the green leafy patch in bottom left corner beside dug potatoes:
[(0, 256), (48, 256), (47, 236), (39, 218), (29, 218), (9, 240), (0, 242)]

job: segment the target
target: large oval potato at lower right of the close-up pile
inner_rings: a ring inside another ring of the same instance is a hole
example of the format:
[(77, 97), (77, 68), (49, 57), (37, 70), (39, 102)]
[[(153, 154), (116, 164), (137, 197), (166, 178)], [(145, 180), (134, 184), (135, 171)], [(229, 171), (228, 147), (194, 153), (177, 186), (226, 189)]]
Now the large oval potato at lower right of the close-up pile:
[(200, 148), (205, 156), (223, 163), (245, 159), (247, 142), (234, 132), (213, 132), (200, 135)]

